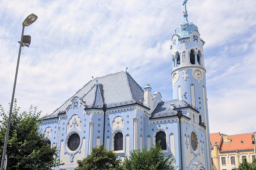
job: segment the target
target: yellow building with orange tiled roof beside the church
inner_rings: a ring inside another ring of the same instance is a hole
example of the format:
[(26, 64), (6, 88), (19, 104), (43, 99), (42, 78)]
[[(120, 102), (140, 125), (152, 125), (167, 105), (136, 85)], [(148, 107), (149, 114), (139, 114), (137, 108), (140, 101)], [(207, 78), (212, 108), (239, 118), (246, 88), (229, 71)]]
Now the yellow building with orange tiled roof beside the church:
[(212, 170), (232, 170), (242, 161), (252, 162), (255, 159), (253, 133), (235, 135), (211, 133), (210, 140)]

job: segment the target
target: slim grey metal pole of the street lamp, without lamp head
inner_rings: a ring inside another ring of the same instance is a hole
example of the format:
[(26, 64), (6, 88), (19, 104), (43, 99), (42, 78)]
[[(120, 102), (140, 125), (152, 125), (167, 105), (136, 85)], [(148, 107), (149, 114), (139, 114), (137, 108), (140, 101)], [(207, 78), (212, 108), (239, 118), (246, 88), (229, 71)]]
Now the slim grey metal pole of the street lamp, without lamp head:
[(5, 160), (6, 148), (7, 148), (7, 142), (8, 142), (8, 135), (9, 135), (10, 124), (11, 124), (12, 107), (13, 107), (14, 94), (15, 94), (15, 88), (16, 88), (16, 82), (17, 82), (17, 76), (18, 76), (18, 69), (19, 69), (19, 62), (20, 62), (21, 47), (22, 47), (22, 42), (23, 42), (24, 28), (25, 28), (25, 26), (22, 26), (22, 33), (21, 33), (21, 39), (20, 39), (20, 49), (19, 49), (19, 55), (18, 55), (18, 61), (17, 61), (13, 91), (12, 91), (12, 100), (11, 100), (11, 106), (10, 106), (10, 112), (9, 112), (9, 119), (8, 119), (8, 124), (7, 124), (7, 128), (6, 128), (6, 135), (5, 135), (5, 141), (4, 141), (4, 150), (3, 150), (2, 162), (1, 162), (1, 170), (4, 170), (4, 160)]

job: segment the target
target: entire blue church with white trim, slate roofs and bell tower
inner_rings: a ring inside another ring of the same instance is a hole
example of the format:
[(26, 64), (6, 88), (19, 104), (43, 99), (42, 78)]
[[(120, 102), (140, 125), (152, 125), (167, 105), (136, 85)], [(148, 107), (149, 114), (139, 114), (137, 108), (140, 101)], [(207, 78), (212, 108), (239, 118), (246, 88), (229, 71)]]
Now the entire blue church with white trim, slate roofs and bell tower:
[(186, 3), (184, 21), (172, 36), (170, 50), (175, 100), (163, 102), (159, 92), (152, 94), (149, 84), (142, 89), (126, 71), (89, 81), (40, 125), (65, 163), (56, 170), (73, 170), (77, 160), (101, 144), (123, 159), (131, 150), (149, 149), (158, 141), (178, 169), (212, 169), (205, 42), (188, 21)]

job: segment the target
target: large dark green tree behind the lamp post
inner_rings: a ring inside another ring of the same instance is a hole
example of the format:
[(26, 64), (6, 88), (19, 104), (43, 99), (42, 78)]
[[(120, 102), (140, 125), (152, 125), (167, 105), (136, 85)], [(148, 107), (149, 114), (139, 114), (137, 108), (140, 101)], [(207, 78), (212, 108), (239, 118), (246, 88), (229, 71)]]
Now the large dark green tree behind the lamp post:
[[(10, 132), (6, 154), (8, 156), (7, 170), (48, 170), (58, 166), (57, 148), (48, 145), (48, 139), (39, 130), (38, 122), (41, 112), (31, 105), (29, 112), (19, 113), (15, 99), (11, 118)], [(9, 113), (5, 114), (0, 105), (0, 158), (8, 123)]]

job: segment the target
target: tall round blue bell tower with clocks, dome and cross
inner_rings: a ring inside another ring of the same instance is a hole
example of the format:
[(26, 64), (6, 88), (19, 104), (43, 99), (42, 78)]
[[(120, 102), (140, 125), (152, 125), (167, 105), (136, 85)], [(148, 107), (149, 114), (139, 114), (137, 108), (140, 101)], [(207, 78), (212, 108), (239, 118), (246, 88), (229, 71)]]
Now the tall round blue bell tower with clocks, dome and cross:
[[(172, 37), (172, 83), (173, 100), (184, 100), (200, 112), (199, 124), (206, 126), (206, 152), (211, 159), (210, 133), (206, 95), (206, 70), (204, 65), (205, 42), (201, 39), (198, 27), (188, 21), (186, 9), (187, 0), (184, 0), (184, 21), (175, 30)], [(207, 169), (211, 169), (210, 162)]]

